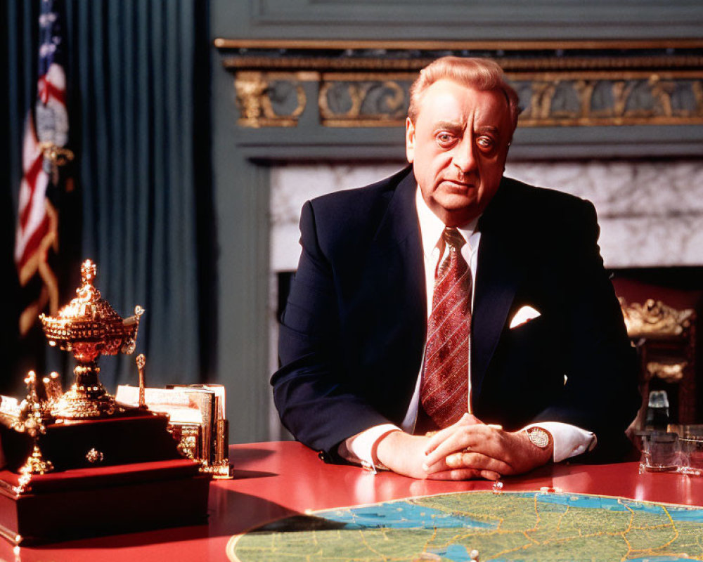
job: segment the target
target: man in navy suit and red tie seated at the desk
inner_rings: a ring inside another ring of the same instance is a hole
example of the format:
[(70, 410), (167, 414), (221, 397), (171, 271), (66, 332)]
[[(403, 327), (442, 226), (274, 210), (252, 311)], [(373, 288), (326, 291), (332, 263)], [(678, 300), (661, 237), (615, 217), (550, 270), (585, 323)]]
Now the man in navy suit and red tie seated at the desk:
[(323, 459), (496, 479), (622, 450), (636, 361), (595, 209), (503, 177), (518, 112), (498, 65), (439, 59), (411, 168), (304, 205), (271, 384)]

